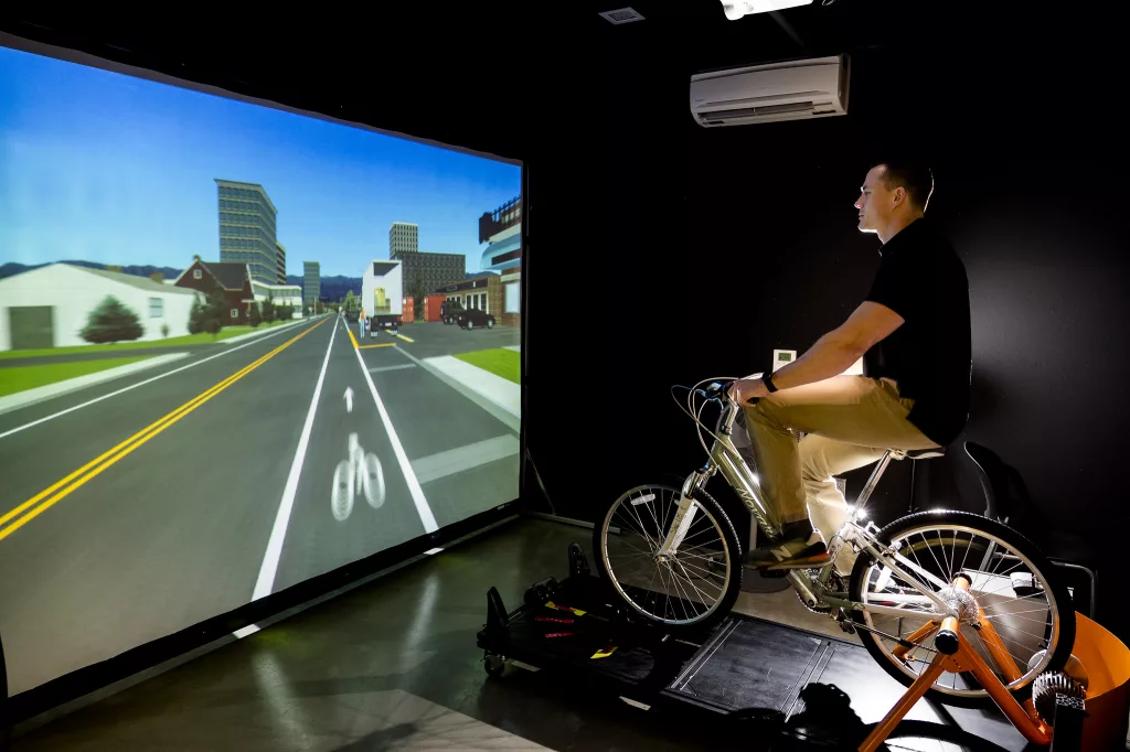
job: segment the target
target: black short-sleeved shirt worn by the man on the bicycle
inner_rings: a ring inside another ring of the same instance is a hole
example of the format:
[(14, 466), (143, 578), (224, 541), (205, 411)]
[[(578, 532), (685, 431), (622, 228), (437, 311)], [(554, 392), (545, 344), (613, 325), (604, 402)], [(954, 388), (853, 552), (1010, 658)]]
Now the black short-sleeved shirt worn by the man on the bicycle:
[(867, 299), (905, 320), (863, 356), (864, 373), (893, 378), (914, 400), (907, 420), (946, 446), (970, 414), (970, 283), (954, 247), (925, 219), (887, 241)]

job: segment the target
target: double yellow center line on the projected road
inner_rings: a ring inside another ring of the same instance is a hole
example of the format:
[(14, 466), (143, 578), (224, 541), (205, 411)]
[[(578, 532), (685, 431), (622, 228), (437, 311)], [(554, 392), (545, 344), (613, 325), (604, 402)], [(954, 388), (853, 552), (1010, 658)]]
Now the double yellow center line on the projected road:
[[(11, 521), (12, 518), (19, 516), (25, 510), (27, 510), (29, 507), (33, 507), (34, 505), (38, 504), (45, 497), (50, 497), (45, 501), (43, 501), (42, 504), (40, 504), (38, 506), (36, 506), (34, 509), (31, 509), (29, 511), (27, 511), (27, 514), (25, 514), (19, 519), (16, 519), (15, 522), (12, 522), (7, 527), (3, 527), (2, 530), (0, 530), (0, 541), (2, 541), (3, 539), (8, 537), (9, 535), (11, 535), (14, 532), (16, 532), (20, 527), (23, 527), (25, 524), (27, 524), (28, 522), (31, 522), (32, 519), (34, 519), (38, 515), (43, 514), (46, 509), (49, 509), (50, 507), (54, 506), (58, 501), (60, 501), (62, 498), (64, 498), (66, 496), (68, 496), (72, 491), (75, 491), (77, 488), (79, 488), (80, 486), (82, 486), (84, 483), (86, 483), (88, 480), (90, 480), (95, 475), (102, 473), (102, 471), (104, 471), (106, 467), (108, 467), (110, 465), (114, 464), (115, 462), (118, 462), (119, 460), (121, 460), (122, 457), (124, 457), (125, 455), (130, 454), (131, 452), (133, 452), (133, 449), (138, 448), (139, 446), (141, 446), (142, 444), (145, 444), (146, 441), (148, 441), (149, 439), (151, 439), (154, 436), (156, 436), (157, 434), (162, 432), (163, 430), (165, 430), (166, 428), (168, 428), (169, 426), (172, 426), (173, 423), (175, 423), (177, 420), (180, 420), (184, 416), (189, 414), (190, 412), (192, 412), (193, 410), (195, 410), (197, 408), (199, 408), (201, 404), (203, 404), (205, 402), (207, 402), (211, 397), (216, 396), (217, 394), (219, 394), (220, 392), (223, 392), (224, 390), (226, 390), (228, 386), (231, 386), (235, 382), (240, 381), (241, 378), (243, 378), (244, 376), (246, 376), (247, 374), (250, 374), (252, 370), (254, 370), (259, 366), (263, 365), (264, 362), (267, 362), (268, 360), (270, 360), (271, 358), (273, 358), (276, 355), (278, 355), (279, 352), (281, 352), (286, 348), (290, 347), (292, 344), (294, 344), (295, 342), (297, 342), (302, 338), (306, 336), (306, 334), (310, 334), (312, 331), (314, 331), (315, 329), (318, 329), (319, 326), (321, 326), (324, 323), (325, 323), (325, 320), (322, 320), (319, 323), (316, 323), (313, 326), (311, 326), (310, 329), (307, 329), (306, 331), (304, 331), (301, 334), (298, 334), (297, 336), (294, 336), (294, 338), (292, 338), (289, 340), (287, 340), (286, 342), (284, 342), (279, 347), (275, 348), (273, 350), (271, 350), (270, 352), (268, 352), (263, 357), (259, 358), (254, 362), (252, 362), (252, 364), (250, 364), (250, 365), (241, 368), (240, 370), (237, 370), (236, 373), (232, 374), (231, 376), (228, 376), (224, 381), (219, 382), (215, 386), (212, 386), (212, 387), (206, 390), (205, 392), (198, 394), (197, 396), (192, 397), (191, 400), (189, 400), (188, 402), (185, 402), (184, 404), (182, 404), (176, 410), (173, 410), (167, 416), (165, 416), (165, 417), (160, 418), (159, 420), (150, 423), (149, 426), (146, 426), (140, 431), (138, 431), (133, 436), (129, 437), (124, 441), (120, 443), (115, 447), (108, 449), (107, 452), (102, 453), (101, 455), (98, 455), (97, 457), (95, 457), (90, 462), (86, 463), (85, 465), (82, 465), (81, 467), (79, 467), (78, 470), (76, 470), (75, 472), (70, 473), (69, 475), (67, 475), (62, 480), (59, 480), (59, 481), (52, 483), (47, 488), (43, 489), (42, 491), (40, 491), (35, 496), (33, 496), (27, 501), (24, 501), (23, 504), (20, 504), (18, 507), (16, 507), (15, 509), (12, 509), (11, 511), (5, 514), (2, 517), (0, 517), (0, 526), (6, 525), (9, 521)], [(69, 483), (69, 486), (68, 486), (68, 483)], [(64, 486), (66, 486), (66, 488), (62, 488)], [(61, 491), (59, 491), (60, 488), (62, 488)], [(55, 491), (59, 491), (59, 492), (55, 493)]]

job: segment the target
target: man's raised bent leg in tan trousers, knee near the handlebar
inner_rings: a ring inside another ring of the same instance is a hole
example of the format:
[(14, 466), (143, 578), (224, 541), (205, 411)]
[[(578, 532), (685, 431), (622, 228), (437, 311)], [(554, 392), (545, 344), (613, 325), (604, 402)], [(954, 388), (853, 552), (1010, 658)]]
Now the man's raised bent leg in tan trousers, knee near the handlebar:
[(800, 447), (791, 431), (883, 449), (937, 446), (906, 420), (912, 405), (912, 400), (898, 396), (893, 382), (836, 376), (771, 394), (747, 408), (758, 479), (782, 525), (799, 531), (808, 519)]

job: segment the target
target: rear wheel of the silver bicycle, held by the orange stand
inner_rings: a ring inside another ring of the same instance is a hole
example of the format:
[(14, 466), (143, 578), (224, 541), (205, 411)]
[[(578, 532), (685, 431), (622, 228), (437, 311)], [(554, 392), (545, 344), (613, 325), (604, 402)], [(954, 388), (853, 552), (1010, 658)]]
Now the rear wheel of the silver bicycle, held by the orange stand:
[[(918, 568), (902, 567), (944, 601), (960, 611), (960, 632), (1018, 699), (1032, 692), (1032, 682), (1045, 671), (1063, 667), (1075, 646), (1075, 609), (1052, 563), (1015, 530), (967, 511), (922, 511), (896, 519), (876, 535), (897, 556)], [(964, 575), (966, 597), (942, 587)], [(860, 553), (851, 579), (851, 600), (863, 605), (852, 617), (886, 636), (859, 630), (868, 653), (883, 668), (910, 687), (937, 656), (938, 607), (910, 580), (869, 553)], [(877, 613), (869, 604), (904, 613)], [(992, 629), (988, 629), (988, 627)], [(906, 652), (892, 638), (919, 647)], [(988, 707), (992, 698), (972, 674), (942, 673), (928, 694), (960, 707)]]

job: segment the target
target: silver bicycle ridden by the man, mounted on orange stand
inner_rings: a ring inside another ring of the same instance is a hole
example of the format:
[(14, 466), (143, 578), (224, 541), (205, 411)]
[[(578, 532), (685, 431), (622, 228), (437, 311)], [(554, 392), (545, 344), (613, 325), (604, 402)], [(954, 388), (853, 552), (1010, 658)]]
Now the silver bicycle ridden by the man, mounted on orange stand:
[[(775, 548), (781, 541), (781, 526), (757, 475), (732, 439), (740, 411), (727, 391), (733, 381), (704, 379), (688, 388), (683, 410), (696, 423), (706, 465), (679, 488), (658, 483), (625, 491), (593, 530), (598, 569), (616, 597), (631, 615), (672, 633), (712, 627), (733, 607), (741, 589), (741, 543), (721, 505), (706, 492), (715, 474), (749, 509), (768, 542)], [(672, 387), (672, 396), (675, 388), (687, 387)], [(721, 408), (713, 431), (702, 421), (707, 404)], [(712, 446), (704, 430), (713, 437)], [(828, 541), (827, 563), (775, 574), (788, 577), (806, 607), (858, 633), (871, 657), (906, 687), (937, 655), (935, 640), (953, 639), (940, 628), (944, 619), (956, 617), (966, 639), (1023, 701), (1036, 676), (1061, 670), (1070, 657), (1070, 595), (1031, 541), (986, 517), (938, 509), (883, 528), (861, 524), (887, 462), (903, 456), (897, 449), (884, 455)], [(846, 558), (854, 557), (850, 572), (836, 566), (843, 546), (850, 546)], [(773, 574), (775, 567), (764, 569)], [(992, 705), (968, 674), (941, 674), (928, 697), (964, 707)]]

